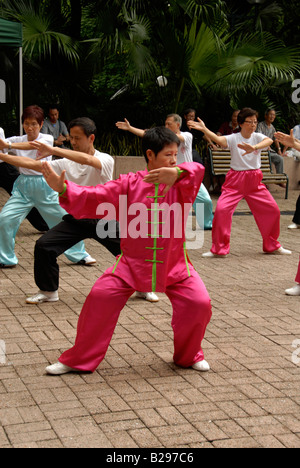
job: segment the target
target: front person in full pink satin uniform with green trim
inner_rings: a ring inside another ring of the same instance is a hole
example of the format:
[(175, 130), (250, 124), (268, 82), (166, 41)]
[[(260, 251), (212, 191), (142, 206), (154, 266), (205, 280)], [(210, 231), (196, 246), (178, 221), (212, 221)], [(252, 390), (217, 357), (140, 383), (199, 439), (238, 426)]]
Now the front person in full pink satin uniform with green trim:
[(196, 163), (176, 166), (179, 143), (167, 128), (148, 130), (143, 138), (148, 170), (121, 175), (94, 188), (65, 183), (63, 173), (59, 177), (44, 164), (44, 177), (60, 192), (60, 203), (70, 214), (103, 218), (105, 213), (106, 219), (119, 221), (122, 251), (87, 298), (74, 347), (47, 367), (48, 373), (95, 371), (126, 302), (135, 290), (148, 289), (165, 292), (173, 306), (174, 362), (209, 370), (201, 343), (211, 318), (211, 303), (185, 244), (185, 224), (204, 168)]

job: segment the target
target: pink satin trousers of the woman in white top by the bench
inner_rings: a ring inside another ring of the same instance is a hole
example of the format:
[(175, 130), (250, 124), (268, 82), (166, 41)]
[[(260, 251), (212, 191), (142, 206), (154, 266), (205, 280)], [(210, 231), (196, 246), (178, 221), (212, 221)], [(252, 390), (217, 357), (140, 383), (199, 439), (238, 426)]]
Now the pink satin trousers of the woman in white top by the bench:
[(231, 169), (228, 172), (213, 221), (212, 253), (229, 254), (232, 216), (243, 198), (247, 201), (261, 232), (264, 252), (271, 253), (281, 247), (278, 242), (280, 210), (262, 183), (262, 179), (263, 174), (260, 169), (253, 171), (234, 171)]

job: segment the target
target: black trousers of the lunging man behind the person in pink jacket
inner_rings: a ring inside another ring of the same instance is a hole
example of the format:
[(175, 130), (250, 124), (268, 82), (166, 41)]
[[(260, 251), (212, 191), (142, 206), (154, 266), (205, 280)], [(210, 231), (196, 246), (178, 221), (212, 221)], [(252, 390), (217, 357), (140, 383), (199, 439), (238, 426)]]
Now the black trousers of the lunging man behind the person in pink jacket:
[[(105, 239), (97, 235), (98, 223), (107, 233)], [(44, 234), (35, 245), (34, 278), (41, 291), (57, 291), (59, 288), (59, 265), (57, 257), (85, 239), (95, 239), (116, 257), (121, 253), (119, 225), (116, 221), (99, 219), (77, 220), (71, 215)]]

